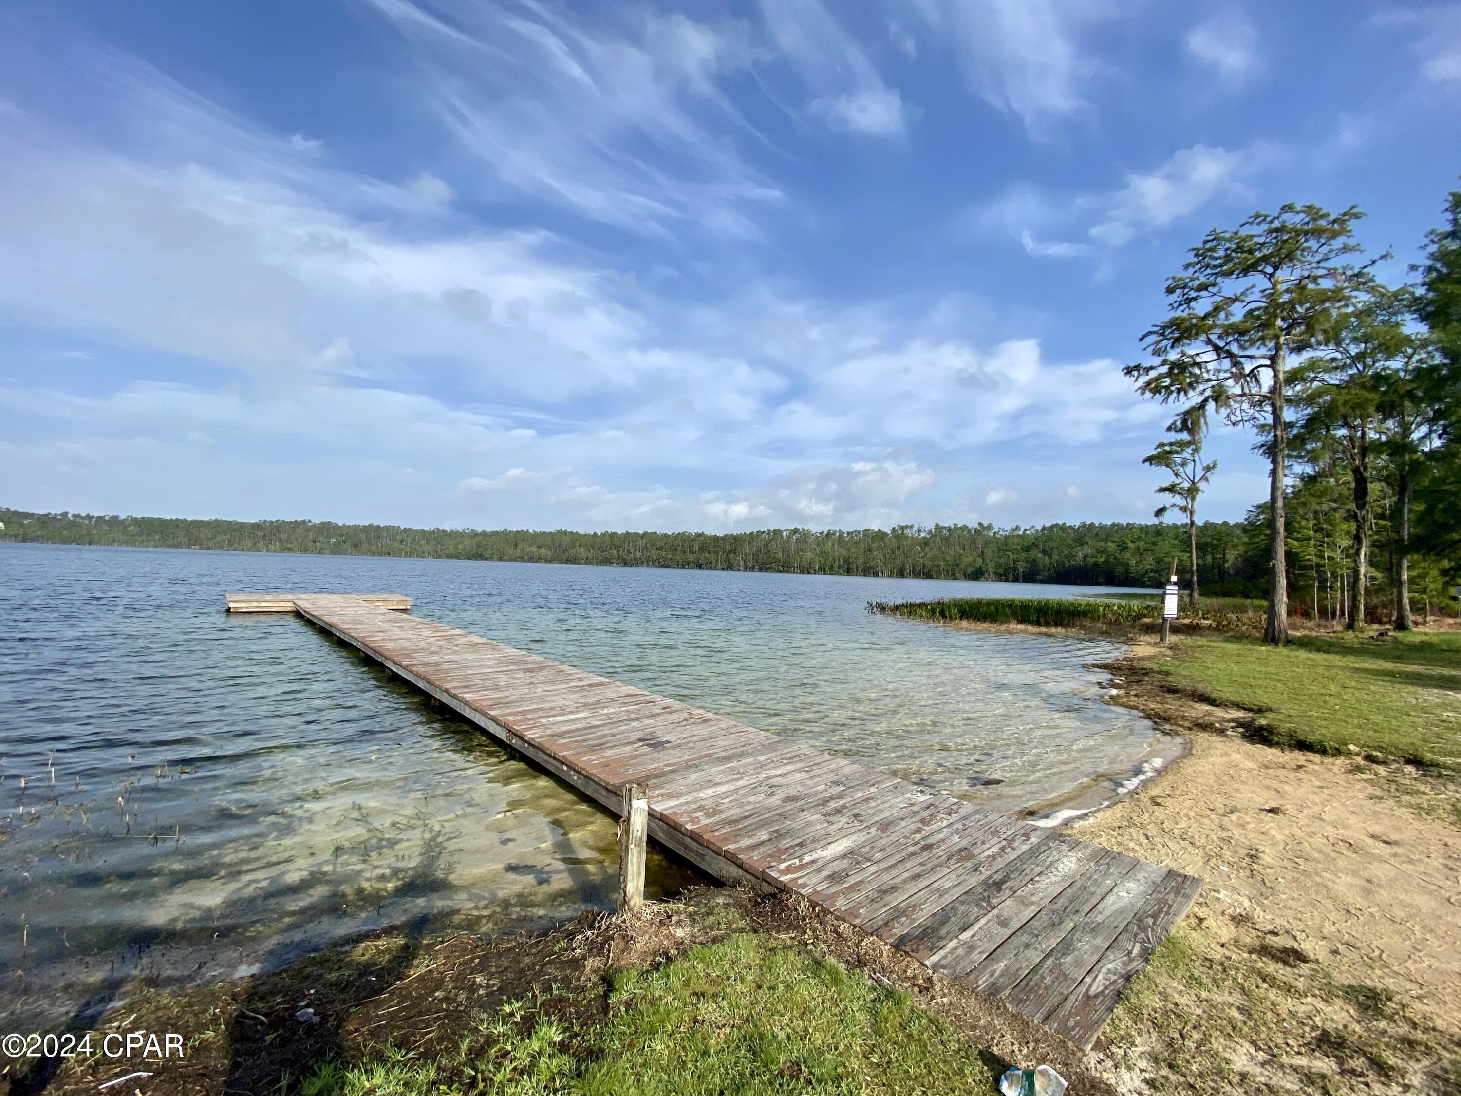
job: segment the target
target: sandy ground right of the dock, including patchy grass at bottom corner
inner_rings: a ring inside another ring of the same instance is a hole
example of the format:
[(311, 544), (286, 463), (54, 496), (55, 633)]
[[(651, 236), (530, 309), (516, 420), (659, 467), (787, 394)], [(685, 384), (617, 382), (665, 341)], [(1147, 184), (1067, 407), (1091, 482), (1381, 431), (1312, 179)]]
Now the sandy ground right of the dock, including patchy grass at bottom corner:
[(1091, 1064), (1124, 1092), (1461, 1092), (1455, 789), (1258, 744), (1254, 713), (1169, 687), (1163, 655), (1107, 666), (1113, 701), (1188, 753), (1069, 831), (1204, 890)]

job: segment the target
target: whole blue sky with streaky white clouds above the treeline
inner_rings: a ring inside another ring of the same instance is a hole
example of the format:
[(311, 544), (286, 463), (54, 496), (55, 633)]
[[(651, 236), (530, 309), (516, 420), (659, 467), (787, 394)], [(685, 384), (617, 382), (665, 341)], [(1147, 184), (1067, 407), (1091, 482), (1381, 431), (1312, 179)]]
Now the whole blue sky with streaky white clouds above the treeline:
[(1458, 108), (1455, 4), (9, 4), (0, 503), (1147, 519), (1186, 248), (1359, 203), (1403, 279)]

